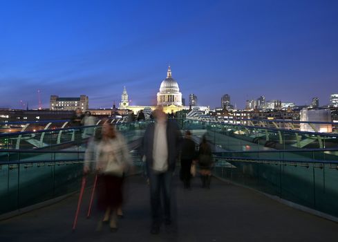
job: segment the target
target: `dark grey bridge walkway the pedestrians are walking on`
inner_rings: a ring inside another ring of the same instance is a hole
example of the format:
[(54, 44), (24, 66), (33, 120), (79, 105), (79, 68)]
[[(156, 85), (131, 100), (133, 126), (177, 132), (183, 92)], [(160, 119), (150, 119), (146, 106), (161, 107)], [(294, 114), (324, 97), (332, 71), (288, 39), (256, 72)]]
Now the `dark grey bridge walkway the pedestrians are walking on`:
[(95, 232), (99, 213), (85, 218), (90, 190), (84, 197), (77, 230), (71, 231), (78, 194), (59, 203), (0, 222), (0, 241), (337, 241), (338, 224), (294, 210), (244, 187), (213, 178), (211, 189), (182, 188), (175, 176), (173, 224), (152, 235), (149, 187), (144, 178), (126, 182), (124, 218), (118, 232)]

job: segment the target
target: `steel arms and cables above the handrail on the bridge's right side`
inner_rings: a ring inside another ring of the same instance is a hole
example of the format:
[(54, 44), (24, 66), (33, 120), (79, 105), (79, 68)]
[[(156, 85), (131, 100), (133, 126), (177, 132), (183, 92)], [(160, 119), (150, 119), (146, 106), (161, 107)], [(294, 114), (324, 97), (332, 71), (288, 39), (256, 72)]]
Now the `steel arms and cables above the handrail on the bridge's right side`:
[(184, 129), (204, 130), (210, 142), (227, 151), (338, 149), (338, 133), (273, 129), (196, 120), (185, 120)]

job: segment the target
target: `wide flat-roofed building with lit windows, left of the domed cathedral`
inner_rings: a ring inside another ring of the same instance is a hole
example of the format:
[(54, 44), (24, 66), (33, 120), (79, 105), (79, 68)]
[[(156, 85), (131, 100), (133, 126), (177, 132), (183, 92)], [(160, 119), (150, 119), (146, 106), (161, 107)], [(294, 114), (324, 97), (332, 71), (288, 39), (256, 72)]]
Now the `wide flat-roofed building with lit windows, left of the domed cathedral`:
[(74, 111), (75, 109), (86, 111), (88, 109), (88, 97), (86, 95), (80, 95), (79, 97), (59, 97), (57, 95), (51, 95), (49, 109), (51, 111)]

